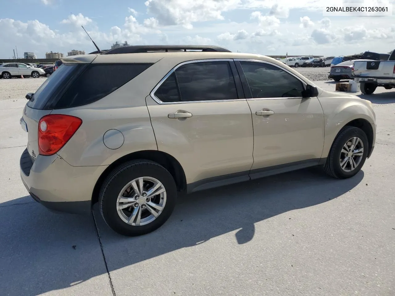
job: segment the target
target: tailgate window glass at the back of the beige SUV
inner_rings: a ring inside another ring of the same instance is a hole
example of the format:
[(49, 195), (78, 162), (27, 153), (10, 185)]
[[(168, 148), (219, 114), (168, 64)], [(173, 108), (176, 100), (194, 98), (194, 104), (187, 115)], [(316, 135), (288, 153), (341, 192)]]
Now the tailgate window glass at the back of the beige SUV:
[(32, 99), (27, 102), (27, 105), (30, 108), (43, 109), (49, 98), (62, 83), (69, 79), (78, 66), (79, 64), (64, 64), (62, 67), (59, 67), (58, 70), (41, 84), (40, 88), (34, 93)]

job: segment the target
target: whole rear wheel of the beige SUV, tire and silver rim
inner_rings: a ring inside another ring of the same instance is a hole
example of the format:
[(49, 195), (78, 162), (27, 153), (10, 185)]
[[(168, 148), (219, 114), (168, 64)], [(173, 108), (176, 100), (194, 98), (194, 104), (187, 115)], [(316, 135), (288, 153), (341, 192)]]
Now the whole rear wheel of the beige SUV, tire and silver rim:
[(161, 227), (176, 204), (177, 187), (171, 174), (148, 160), (117, 167), (103, 182), (100, 212), (107, 225), (125, 236), (138, 236)]

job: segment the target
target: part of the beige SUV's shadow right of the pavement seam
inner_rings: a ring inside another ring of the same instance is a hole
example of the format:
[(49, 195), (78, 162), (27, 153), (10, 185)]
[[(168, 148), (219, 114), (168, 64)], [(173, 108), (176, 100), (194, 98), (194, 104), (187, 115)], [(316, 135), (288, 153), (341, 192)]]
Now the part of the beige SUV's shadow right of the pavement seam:
[[(235, 230), (237, 243), (245, 244), (254, 238), (254, 223), (330, 202), (352, 190), (363, 176), (360, 171), (353, 178), (336, 180), (319, 168), (310, 168), (193, 193), (180, 197), (173, 215), (160, 229), (132, 238), (109, 229), (98, 210), (94, 214), (111, 272), (177, 249), (204, 244)], [(284, 227), (292, 223), (289, 221), (284, 216)]]

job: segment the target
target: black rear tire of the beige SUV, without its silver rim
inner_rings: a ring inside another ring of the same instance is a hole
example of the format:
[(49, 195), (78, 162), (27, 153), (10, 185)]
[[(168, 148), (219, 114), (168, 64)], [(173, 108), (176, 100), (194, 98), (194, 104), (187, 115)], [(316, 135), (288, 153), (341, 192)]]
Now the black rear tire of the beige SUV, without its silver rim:
[[(152, 222), (133, 226), (124, 222), (117, 212), (117, 199), (122, 188), (139, 177), (152, 177), (160, 181), (166, 189), (166, 204), (162, 212)], [(161, 165), (153, 161), (139, 159), (129, 161), (115, 168), (103, 182), (99, 193), (99, 207), (107, 225), (125, 236), (139, 236), (161, 227), (174, 210), (177, 200), (177, 187), (173, 176)]]

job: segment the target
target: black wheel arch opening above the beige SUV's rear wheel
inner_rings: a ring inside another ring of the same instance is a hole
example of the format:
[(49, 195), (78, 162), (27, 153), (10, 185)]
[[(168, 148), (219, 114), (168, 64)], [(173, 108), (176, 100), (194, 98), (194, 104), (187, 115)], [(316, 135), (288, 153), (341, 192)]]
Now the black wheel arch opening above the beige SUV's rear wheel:
[(145, 160), (150, 160), (154, 161), (160, 165), (162, 165), (165, 169), (169, 171), (171, 176), (173, 176), (175, 184), (177, 186), (178, 191), (184, 191), (186, 189), (186, 177), (185, 177), (185, 172), (184, 169), (182, 168), (181, 164), (177, 159), (175, 159), (173, 156), (170, 154), (167, 154), (166, 152), (158, 151), (158, 150), (142, 150), (142, 151), (137, 151), (133, 152), (127, 155), (124, 155), (111, 163), (105, 169), (98, 180), (96, 181), (96, 184), (93, 188), (92, 191), (92, 205), (98, 202), (99, 199), (99, 192), (100, 192), (100, 187), (102, 186), (105, 178), (119, 165), (122, 163), (125, 163), (127, 161), (132, 161), (136, 159), (145, 159)]

